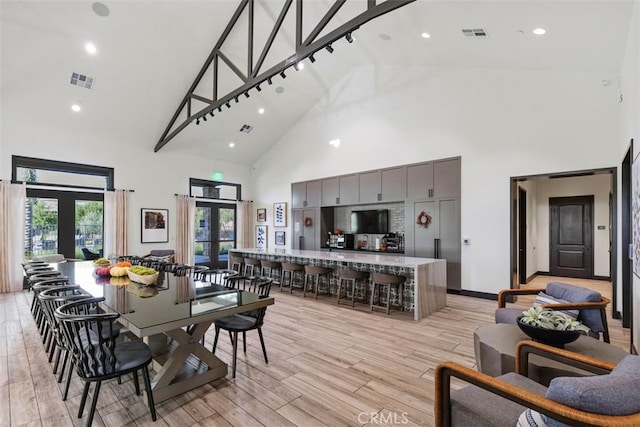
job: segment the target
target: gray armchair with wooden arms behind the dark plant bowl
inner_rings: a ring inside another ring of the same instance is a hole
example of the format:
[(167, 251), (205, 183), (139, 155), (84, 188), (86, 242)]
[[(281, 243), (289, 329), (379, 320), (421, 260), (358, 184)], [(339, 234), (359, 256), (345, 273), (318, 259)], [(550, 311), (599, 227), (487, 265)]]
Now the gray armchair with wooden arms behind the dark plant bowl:
[(522, 314), (522, 308), (507, 307), (507, 299), (515, 295), (537, 295), (544, 292), (546, 297), (556, 302), (543, 304), (553, 310), (579, 310), (578, 320), (590, 330), (590, 335), (604, 342), (611, 342), (607, 325), (606, 307), (611, 302), (599, 292), (562, 282), (549, 282), (546, 289), (504, 289), (498, 294), (498, 309), (495, 312), (496, 323), (516, 323)]

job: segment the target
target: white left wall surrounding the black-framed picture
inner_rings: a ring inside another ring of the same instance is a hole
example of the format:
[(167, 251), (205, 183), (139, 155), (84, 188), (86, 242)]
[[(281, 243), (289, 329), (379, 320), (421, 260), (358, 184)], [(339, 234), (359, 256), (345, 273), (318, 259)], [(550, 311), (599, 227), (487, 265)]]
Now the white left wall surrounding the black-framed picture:
[[(11, 178), (11, 155), (114, 168), (115, 187), (135, 190), (129, 203), (130, 254), (176, 247), (174, 194), (189, 194), (189, 178), (212, 179), (214, 172), (221, 172), (224, 181), (242, 185), (243, 198), (251, 198), (251, 171), (247, 166), (186, 156), (179, 154), (179, 149), (154, 153), (155, 140), (149, 136), (127, 135), (117, 129), (106, 136), (73, 123), (47, 121), (46, 114), (33, 125), (23, 119), (33, 111), (21, 110), (15, 103), (12, 107), (3, 111), (0, 179)], [(141, 208), (169, 209), (168, 243), (140, 242)]]

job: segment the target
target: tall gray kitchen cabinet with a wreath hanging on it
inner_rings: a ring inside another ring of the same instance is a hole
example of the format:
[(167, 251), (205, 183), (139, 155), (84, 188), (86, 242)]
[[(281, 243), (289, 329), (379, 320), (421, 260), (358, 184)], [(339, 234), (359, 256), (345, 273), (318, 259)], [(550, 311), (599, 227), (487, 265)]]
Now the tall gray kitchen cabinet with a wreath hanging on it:
[[(422, 214), (431, 221), (417, 224)], [(461, 289), (460, 199), (405, 202), (405, 255), (447, 260), (447, 289)]]

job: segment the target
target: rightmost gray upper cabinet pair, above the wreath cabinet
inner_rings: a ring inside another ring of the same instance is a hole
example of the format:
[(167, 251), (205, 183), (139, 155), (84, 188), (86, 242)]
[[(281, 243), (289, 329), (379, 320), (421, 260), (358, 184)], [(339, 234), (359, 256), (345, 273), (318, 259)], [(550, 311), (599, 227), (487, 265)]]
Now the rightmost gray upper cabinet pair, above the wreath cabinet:
[(460, 196), (460, 159), (407, 166), (407, 199)]

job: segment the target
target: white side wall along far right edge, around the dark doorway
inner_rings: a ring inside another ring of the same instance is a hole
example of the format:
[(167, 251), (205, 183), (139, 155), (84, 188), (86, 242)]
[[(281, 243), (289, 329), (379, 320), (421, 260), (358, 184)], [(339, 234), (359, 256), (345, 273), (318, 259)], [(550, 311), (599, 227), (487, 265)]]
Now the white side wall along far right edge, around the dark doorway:
[[(620, 77), (620, 92), (623, 95), (623, 102), (620, 104), (619, 163), (622, 162), (629, 148), (629, 140), (631, 138), (634, 139), (634, 158), (640, 153), (640, 80), (638, 73), (640, 73), (640, 1), (635, 0)], [(621, 188), (620, 185), (620, 181), (618, 181), (618, 188)], [(620, 215), (618, 216), (618, 221), (620, 221)], [(620, 235), (618, 235), (618, 238), (620, 238)], [(626, 254), (626, 250), (620, 250), (619, 253)], [(618, 277), (622, 277), (621, 271), (619, 262)], [(618, 291), (618, 300), (622, 301), (621, 289), (618, 289)], [(638, 327), (640, 325), (640, 278), (635, 275), (633, 276), (632, 305), (632, 340), (635, 348), (640, 349), (640, 327)]]

